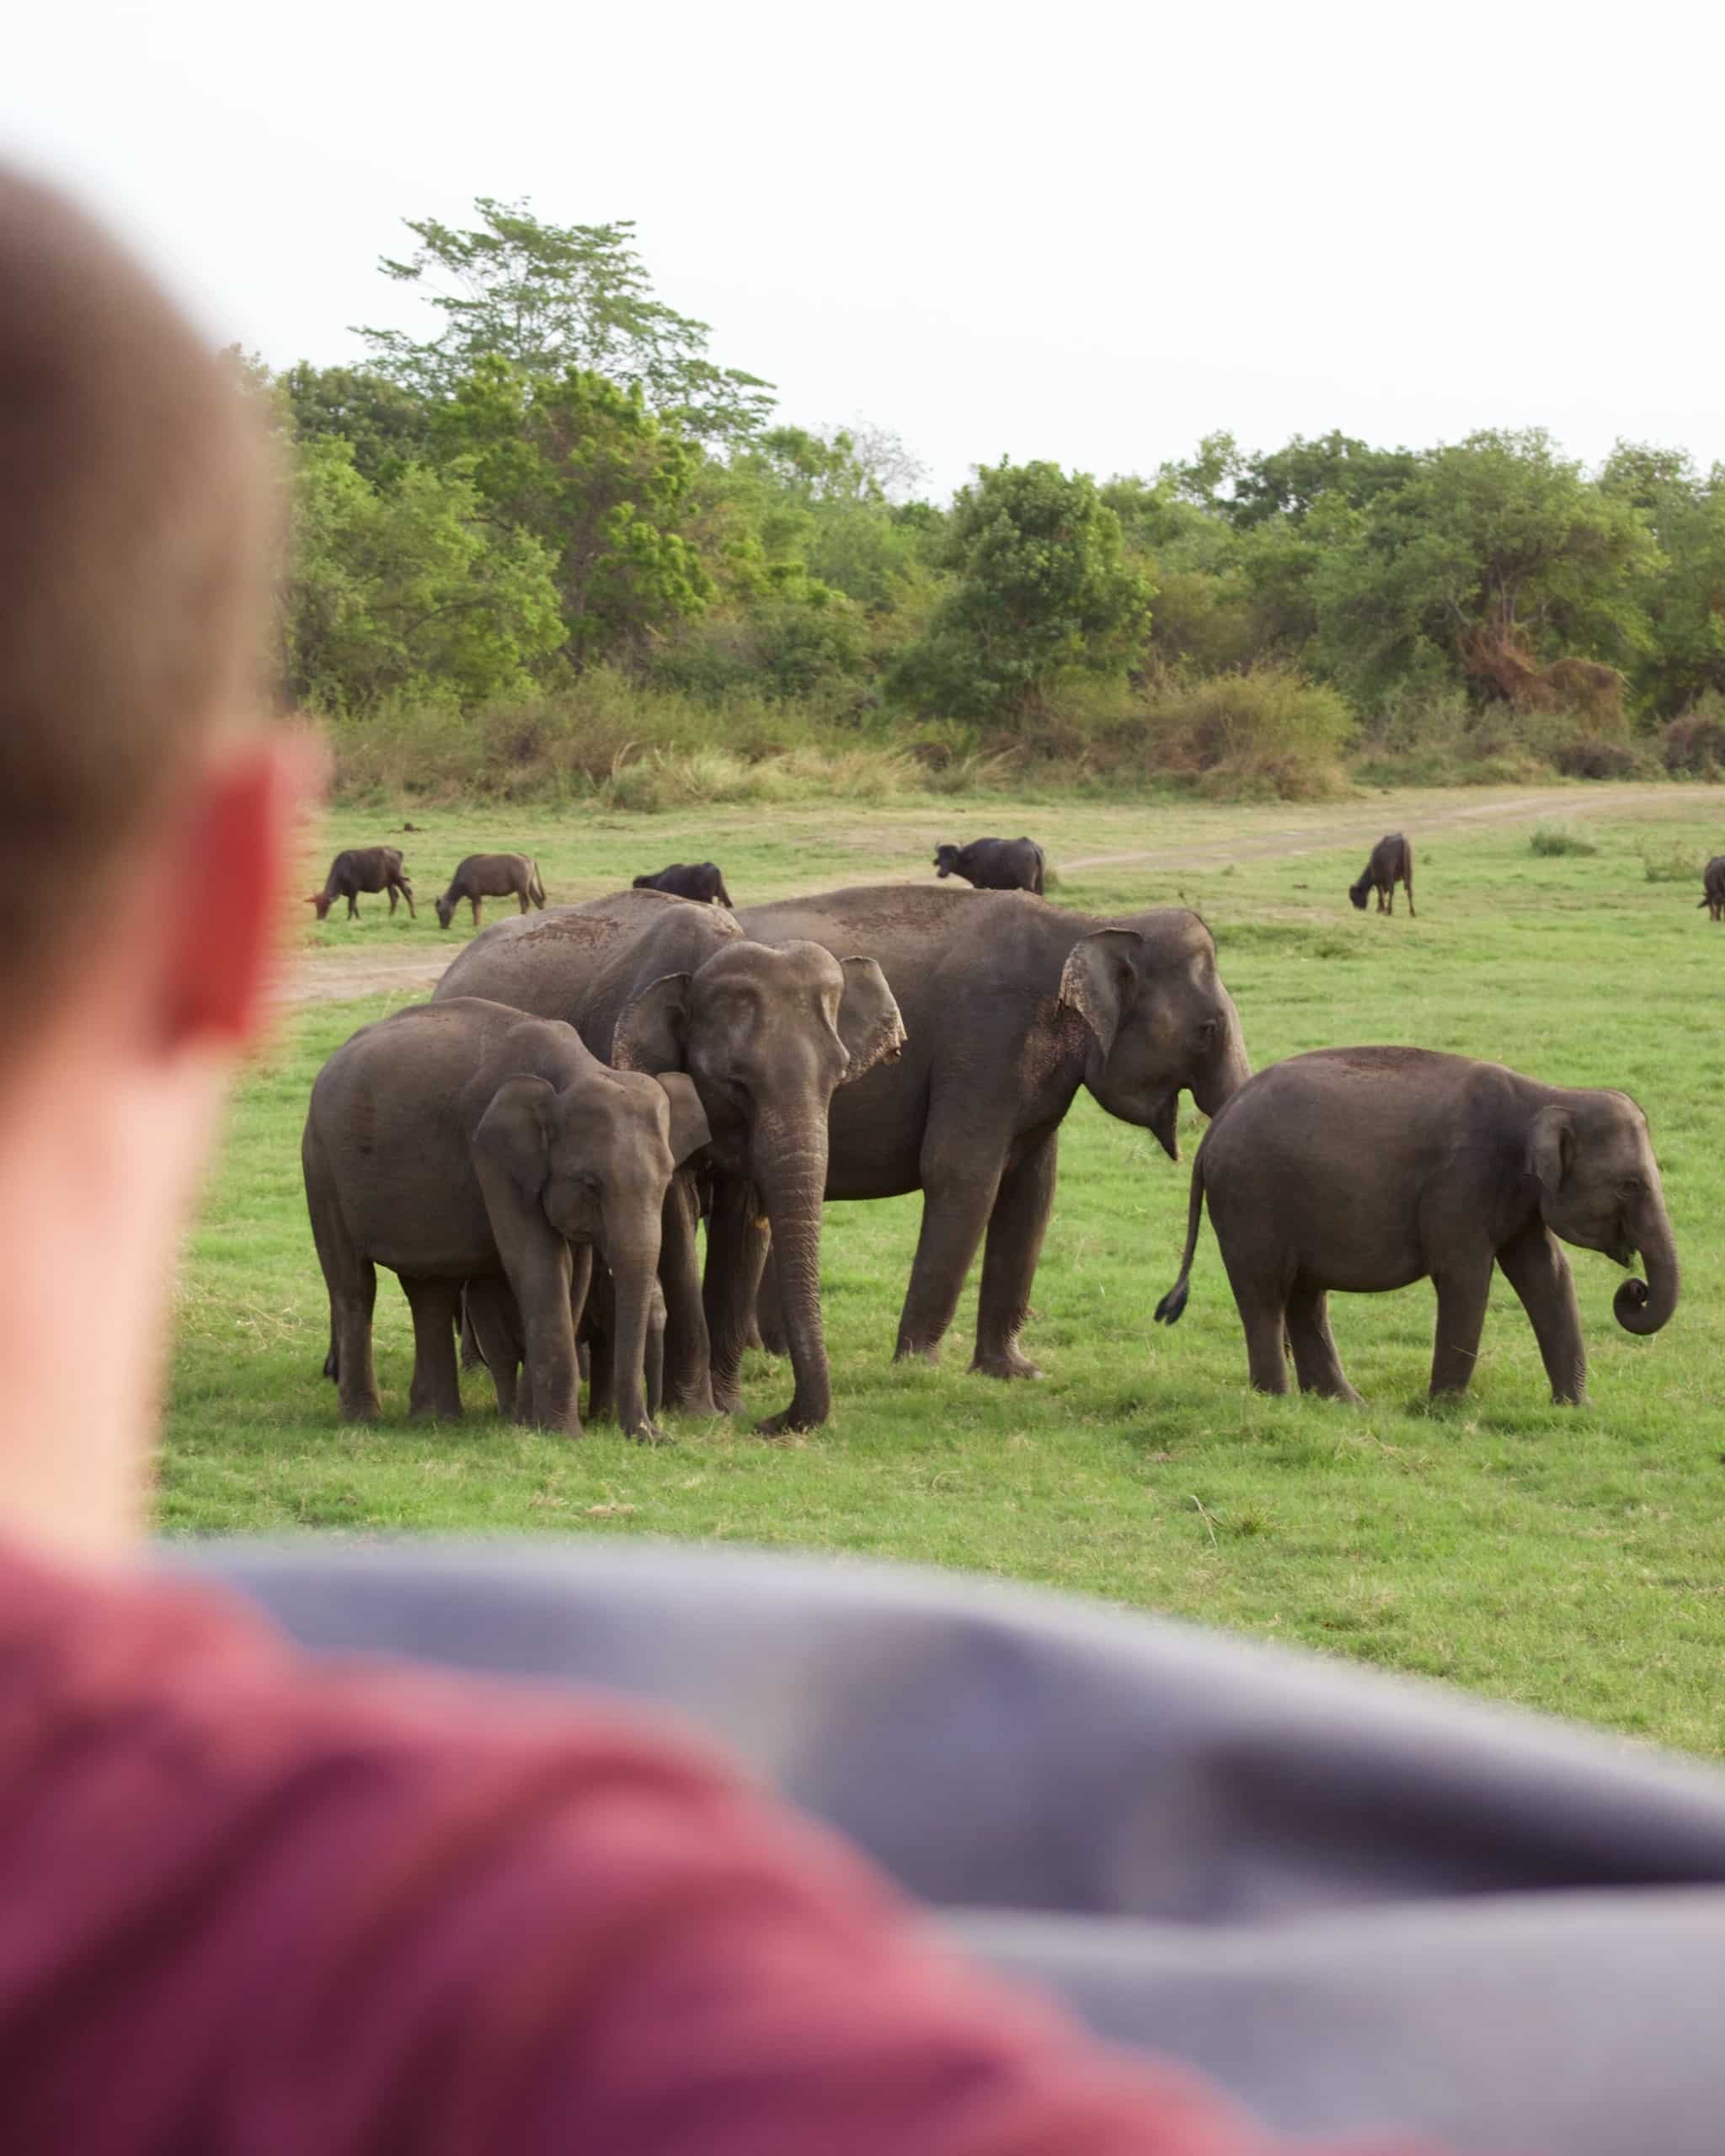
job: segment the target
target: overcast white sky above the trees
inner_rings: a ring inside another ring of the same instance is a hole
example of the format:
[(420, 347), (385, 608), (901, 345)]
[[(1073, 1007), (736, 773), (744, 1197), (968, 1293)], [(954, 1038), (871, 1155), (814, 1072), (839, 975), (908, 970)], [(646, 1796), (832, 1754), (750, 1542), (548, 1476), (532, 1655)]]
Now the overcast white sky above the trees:
[(1721, 63), (1667, 0), (84, 0), (9, 13), (0, 142), (278, 364), (414, 319), (403, 216), (636, 218), (716, 358), (938, 489), (1216, 427), (1710, 464)]

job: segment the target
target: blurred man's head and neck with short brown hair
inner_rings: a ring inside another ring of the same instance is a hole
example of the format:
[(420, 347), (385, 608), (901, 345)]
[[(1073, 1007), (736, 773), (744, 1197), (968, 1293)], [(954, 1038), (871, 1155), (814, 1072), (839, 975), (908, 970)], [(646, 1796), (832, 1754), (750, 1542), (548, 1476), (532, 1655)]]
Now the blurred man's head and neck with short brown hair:
[(123, 1539), (114, 1453), (147, 1447), (170, 1238), (267, 970), (267, 522), (220, 360), (0, 168), (0, 1533), (52, 1546)]

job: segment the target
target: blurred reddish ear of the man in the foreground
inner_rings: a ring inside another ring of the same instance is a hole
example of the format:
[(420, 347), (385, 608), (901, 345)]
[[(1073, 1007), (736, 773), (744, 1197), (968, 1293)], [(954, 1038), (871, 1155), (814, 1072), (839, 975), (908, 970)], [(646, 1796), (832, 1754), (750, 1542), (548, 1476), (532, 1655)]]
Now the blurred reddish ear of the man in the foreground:
[(168, 1044), (242, 1046), (263, 1018), (298, 815), (321, 791), (319, 759), (293, 735), (250, 733), (216, 748), (188, 780), (181, 875), (170, 908)]

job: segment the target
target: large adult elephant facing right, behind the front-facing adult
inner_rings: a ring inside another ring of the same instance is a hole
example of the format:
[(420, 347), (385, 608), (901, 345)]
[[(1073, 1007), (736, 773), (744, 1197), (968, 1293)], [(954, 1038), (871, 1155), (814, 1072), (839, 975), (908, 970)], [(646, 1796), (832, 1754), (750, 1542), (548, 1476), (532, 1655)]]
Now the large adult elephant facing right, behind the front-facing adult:
[(923, 1192), (899, 1356), (934, 1358), (988, 1238), (972, 1369), (1039, 1376), (1018, 1335), (1078, 1087), (1177, 1160), (1182, 1089), (1214, 1115), (1251, 1078), (1210, 929), (1184, 908), (1095, 921), (1018, 890), (903, 884), (737, 918), (763, 944), (869, 951), (903, 1011), (906, 1054), (832, 1102), (826, 1173), (830, 1199)]

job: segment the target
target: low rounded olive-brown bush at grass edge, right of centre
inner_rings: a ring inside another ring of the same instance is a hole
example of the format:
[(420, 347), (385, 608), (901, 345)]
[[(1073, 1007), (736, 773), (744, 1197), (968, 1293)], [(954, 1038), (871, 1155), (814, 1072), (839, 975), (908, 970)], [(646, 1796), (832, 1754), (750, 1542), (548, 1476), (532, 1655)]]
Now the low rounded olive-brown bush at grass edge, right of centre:
[(1208, 681), (1175, 677), (1151, 688), (1145, 716), (1151, 761), (1216, 800), (1333, 793), (1354, 731), (1339, 690), (1279, 664)]

